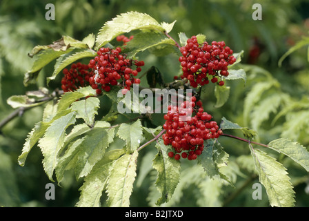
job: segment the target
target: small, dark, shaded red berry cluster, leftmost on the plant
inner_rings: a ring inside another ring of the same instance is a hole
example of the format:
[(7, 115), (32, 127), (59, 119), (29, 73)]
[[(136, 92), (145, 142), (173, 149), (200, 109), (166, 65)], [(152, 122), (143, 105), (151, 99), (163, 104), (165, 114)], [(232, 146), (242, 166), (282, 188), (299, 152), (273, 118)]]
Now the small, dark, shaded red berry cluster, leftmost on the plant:
[(70, 70), (68, 68), (63, 69), (64, 77), (61, 79), (61, 88), (63, 92), (77, 90), (80, 87), (88, 85), (89, 78), (93, 73), (89, 70), (88, 65), (72, 64)]

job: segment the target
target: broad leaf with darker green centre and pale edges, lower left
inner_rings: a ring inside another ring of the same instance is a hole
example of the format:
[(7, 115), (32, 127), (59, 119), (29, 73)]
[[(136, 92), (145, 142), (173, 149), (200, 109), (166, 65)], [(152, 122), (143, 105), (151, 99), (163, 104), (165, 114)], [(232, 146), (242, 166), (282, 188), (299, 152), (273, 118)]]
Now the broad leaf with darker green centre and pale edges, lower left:
[[(110, 128), (110, 124), (107, 122), (101, 122), (101, 124), (97, 122), (92, 130), (86, 132), (81, 128), (81, 131), (84, 134), (83, 137), (74, 141), (59, 159), (56, 169), (58, 182), (61, 182), (63, 173), (70, 169), (74, 169), (77, 179), (88, 175), (114, 140), (114, 128)], [(74, 135), (80, 134), (75, 133)], [(67, 140), (68, 138), (66, 138)]]

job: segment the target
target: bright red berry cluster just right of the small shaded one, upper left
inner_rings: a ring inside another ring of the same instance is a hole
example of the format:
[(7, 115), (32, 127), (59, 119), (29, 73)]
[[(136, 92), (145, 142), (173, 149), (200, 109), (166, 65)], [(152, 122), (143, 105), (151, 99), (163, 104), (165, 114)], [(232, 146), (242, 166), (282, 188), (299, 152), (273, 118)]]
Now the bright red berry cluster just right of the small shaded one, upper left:
[[(132, 69), (132, 65), (136, 69)], [(141, 71), (143, 61), (126, 59), (125, 55), (121, 55), (121, 48), (115, 49), (100, 48), (97, 56), (89, 61), (89, 68), (92, 68), (94, 75), (89, 78), (90, 86), (96, 90), (97, 95), (110, 91), (110, 86), (118, 84), (119, 79), (122, 80), (123, 93), (130, 90), (132, 84), (139, 84), (140, 79), (135, 78)]]

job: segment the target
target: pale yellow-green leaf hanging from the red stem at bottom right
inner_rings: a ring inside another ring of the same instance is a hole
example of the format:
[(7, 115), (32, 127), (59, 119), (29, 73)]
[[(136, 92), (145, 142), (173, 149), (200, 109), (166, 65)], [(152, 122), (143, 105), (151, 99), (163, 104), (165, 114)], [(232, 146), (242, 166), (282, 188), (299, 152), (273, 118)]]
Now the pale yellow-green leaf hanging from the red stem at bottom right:
[(286, 168), (259, 149), (250, 151), (255, 160), (255, 169), (259, 173), (259, 182), (263, 184), (268, 195), (270, 206), (294, 206), (294, 191)]

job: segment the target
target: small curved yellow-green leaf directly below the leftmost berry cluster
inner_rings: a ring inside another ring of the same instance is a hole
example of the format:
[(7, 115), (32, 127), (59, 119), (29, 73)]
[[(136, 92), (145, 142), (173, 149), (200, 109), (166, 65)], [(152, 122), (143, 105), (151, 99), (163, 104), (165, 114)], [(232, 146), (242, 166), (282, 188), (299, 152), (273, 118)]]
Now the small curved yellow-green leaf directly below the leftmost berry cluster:
[(68, 108), (73, 102), (77, 101), (78, 99), (82, 97), (88, 97), (88, 96), (96, 96), (97, 93), (94, 89), (92, 89), (91, 86), (79, 88), (74, 91), (69, 91), (67, 93), (64, 93), (61, 96), (61, 99), (59, 99), (58, 102), (58, 112), (65, 110)]

